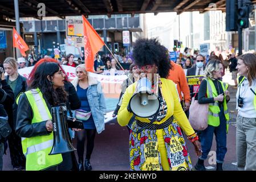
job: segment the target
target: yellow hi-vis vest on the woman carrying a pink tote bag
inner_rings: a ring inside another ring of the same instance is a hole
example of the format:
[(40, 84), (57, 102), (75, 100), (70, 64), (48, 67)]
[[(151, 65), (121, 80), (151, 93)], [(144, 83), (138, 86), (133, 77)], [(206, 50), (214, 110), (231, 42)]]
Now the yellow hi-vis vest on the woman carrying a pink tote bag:
[[(204, 79), (206, 80), (206, 79)], [(206, 80), (207, 81), (207, 97), (211, 98), (211, 97), (217, 97), (218, 93), (217, 90), (214, 86), (214, 83), (212, 80), (210, 80), (209, 78)], [(220, 80), (218, 80), (220, 81)], [(224, 92), (227, 90), (228, 85), (225, 84), (224, 82), (221, 82), (221, 86), (222, 89), (224, 90)], [(225, 118), (226, 118), (226, 132), (228, 133), (229, 131), (229, 111), (227, 110), (227, 102), (226, 102), (226, 96), (224, 95), (224, 114), (225, 114)], [(219, 126), (220, 125), (220, 117), (219, 117), (219, 113), (220, 113), (220, 107), (218, 106), (218, 101), (215, 101), (214, 103), (210, 103), (209, 104), (209, 111), (208, 111), (208, 125), (211, 126)]]

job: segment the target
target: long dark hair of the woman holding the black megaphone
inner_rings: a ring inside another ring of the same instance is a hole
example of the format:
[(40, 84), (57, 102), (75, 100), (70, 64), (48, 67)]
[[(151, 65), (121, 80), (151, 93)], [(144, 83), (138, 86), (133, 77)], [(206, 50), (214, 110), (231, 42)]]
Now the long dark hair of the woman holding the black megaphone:
[(44, 62), (38, 65), (30, 86), (30, 89), (39, 88), (44, 99), (52, 106), (66, 103), (67, 101), (67, 93), (64, 91), (64, 88), (60, 87), (54, 90), (52, 82), (47, 78), (47, 76), (53, 76), (54, 73), (58, 72), (59, 68), (58, 63)]

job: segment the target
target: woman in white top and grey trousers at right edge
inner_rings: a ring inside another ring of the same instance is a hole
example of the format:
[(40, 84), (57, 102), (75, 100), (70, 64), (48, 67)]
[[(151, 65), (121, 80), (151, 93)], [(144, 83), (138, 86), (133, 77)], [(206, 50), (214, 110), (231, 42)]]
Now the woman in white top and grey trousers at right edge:
[(237, 57), (237, 167), (256, 171), (256, 56)]

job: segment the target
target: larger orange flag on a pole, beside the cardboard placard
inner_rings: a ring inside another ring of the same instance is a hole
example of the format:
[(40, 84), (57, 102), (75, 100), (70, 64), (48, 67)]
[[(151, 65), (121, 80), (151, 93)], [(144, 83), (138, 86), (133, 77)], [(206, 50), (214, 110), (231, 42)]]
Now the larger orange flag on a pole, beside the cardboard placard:
[(83, 17), (84, 30), (84, 63), (86, 64), (86, 71), (94, 72), (94, 56), (104, 46), (103, 40), (88, 22), (86, 17)]

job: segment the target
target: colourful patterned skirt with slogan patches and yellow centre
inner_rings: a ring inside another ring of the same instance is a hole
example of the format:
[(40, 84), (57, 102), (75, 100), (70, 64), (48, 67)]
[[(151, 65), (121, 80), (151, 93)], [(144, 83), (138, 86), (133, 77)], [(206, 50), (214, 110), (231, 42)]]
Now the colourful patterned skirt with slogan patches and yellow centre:
[(129, 136), (130, 168), (133, 171), (187, 171), (192, 163), (181, 128), (174, 119), (160, 130), (140, 129), (134, 121)]

